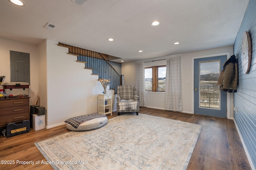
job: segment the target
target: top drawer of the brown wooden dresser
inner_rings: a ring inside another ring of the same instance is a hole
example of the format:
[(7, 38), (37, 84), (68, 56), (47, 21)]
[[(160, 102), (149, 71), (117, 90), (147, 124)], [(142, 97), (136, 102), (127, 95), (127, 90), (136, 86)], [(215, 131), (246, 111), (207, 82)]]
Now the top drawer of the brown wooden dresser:
[(25, 105), (29, 106), (29, 98), (3, 99), (0, 101), (0, 108)]

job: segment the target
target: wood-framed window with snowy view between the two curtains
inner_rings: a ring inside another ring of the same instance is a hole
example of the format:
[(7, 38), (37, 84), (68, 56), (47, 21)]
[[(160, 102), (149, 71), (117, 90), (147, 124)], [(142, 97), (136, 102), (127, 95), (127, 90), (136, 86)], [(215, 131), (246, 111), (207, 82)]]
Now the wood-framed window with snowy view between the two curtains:
[(145, 67), (145, 89), (152, 92), (165, 91), (166, 66)]

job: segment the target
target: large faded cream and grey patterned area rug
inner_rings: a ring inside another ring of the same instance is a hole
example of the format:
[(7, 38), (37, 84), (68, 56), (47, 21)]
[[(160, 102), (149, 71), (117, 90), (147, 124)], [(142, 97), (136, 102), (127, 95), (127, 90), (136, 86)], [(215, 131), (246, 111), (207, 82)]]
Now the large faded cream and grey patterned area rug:
[(185, 170), (201, 128), (128, 113), (100, 129), (68, 132), (35, 145), (56, 170)]

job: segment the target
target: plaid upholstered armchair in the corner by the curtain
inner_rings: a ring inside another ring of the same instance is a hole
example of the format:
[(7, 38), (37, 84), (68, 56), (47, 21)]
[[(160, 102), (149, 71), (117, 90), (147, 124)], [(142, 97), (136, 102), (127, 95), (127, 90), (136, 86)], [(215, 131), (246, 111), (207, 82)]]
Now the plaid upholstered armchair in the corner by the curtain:
[(136, 86), (117, 86), (116, 109), (118, 115), (120, 115), (121, 112), (136, 112), (136, 114), (138, 115), (140, 110), (140, 102), (139, 96), (137, 96)]

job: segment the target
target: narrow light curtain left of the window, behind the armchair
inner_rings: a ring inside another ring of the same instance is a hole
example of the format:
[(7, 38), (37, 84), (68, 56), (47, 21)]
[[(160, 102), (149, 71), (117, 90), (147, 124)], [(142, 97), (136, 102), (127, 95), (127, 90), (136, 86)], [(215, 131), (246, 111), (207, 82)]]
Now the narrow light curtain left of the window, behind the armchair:
[(137, 95), (140, 97), (140, 107), (147, 106), (144, 69), (144, 62), (136, 63), (135, 86), (137, 87)]

